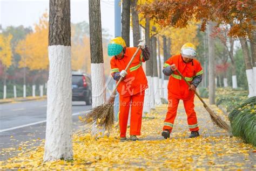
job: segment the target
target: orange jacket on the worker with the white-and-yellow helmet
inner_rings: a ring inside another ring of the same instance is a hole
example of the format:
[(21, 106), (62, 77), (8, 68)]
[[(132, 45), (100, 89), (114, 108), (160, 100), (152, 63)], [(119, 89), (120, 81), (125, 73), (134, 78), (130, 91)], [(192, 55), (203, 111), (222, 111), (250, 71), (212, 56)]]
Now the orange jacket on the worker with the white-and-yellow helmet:
[[(175, 64), (180, 73), (185, 79), (191, 83), (194, 76), (203, 74), (203, 69), (200, 62), (193, 59), (192, 62), (185, 63), (181, 55), (173, 55), (164, 63), (164, 68)], [(168, 92), (171, 96), (179, 99), (190, 99), (194, 96), (194, 91), (188, 89), (188, 85), (181, 79), (177, 72), (174, 72), (169, 77)]]

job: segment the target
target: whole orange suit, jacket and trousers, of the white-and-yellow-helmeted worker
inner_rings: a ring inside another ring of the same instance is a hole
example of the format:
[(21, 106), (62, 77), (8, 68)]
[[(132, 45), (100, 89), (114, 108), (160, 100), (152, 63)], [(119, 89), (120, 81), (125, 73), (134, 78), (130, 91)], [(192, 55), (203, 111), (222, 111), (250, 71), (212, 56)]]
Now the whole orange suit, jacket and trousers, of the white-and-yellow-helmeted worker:
[[(203, 74), (200, 62), (193, 59), (192, 62), (185, 63), (181, 55), (174, 55), (164, 63), (164, 68), (175, 64), (180, 73), (188, 82), (193, 81), (194, 76)], [(198, 131), (196, 112), (194, 111), (194, 91), (188, 89), (188, 85), (177, 72), (170, 75), (168, 83), (168, 111), (164, 120), (163, 130), (172, 131), (174, 119), (177, 115), (179, 100), (183, 100), (184, 108), (187, 114), (187, 123), (190, 131)]]

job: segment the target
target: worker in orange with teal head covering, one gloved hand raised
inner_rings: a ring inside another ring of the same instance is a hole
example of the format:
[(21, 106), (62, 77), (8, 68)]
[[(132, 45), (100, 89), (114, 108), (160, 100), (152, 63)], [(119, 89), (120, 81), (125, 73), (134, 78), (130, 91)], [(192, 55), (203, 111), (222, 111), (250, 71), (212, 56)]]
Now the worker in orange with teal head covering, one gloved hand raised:
[(120, 140), (126, 141), (126, 129), (131, 106), (130, 120), (130, 140), (138, 140), (140, 129), (142, 127), (142, 112), (147, 79), (142, 68), (142, 62), (149, 60), (150, 52), (145, 46), (145, 42), (140, 42), (138, 46), (142, 49), (138, 52), (130, 68), (125, 71), (126, 66), (131, 60), (137, 47), (126, 47), (125, 41), (121, 37), (114, 38), (107, 47), (109, 56), (113, 56), (111, 65), (111, 75), (114, 80), (120, 82), (117, 91), (119, 92), (119, 128)]

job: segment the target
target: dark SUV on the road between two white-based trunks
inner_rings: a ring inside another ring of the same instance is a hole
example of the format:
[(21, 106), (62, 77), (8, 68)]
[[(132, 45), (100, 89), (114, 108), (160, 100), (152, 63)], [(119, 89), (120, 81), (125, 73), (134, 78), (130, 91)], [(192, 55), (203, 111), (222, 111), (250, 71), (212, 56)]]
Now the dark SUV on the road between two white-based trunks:
[(84, 101), (92, 104), (92, 83), (88, 75), (72, 72), (72, 101)]

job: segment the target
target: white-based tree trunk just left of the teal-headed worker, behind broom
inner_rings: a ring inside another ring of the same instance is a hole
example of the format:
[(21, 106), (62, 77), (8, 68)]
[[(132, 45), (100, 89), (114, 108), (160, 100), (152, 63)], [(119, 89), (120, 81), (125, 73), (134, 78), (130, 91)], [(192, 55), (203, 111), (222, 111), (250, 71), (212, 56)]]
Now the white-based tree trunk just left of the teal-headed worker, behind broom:
[[(101, 23), (100, 0), (89, 0), (92, 108), (106, 101)], [(92, 127), (93, 136), (99, 136), (100, 132), (104, 136), (104, 131), (97, 129), (96, 124)]]

